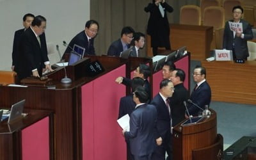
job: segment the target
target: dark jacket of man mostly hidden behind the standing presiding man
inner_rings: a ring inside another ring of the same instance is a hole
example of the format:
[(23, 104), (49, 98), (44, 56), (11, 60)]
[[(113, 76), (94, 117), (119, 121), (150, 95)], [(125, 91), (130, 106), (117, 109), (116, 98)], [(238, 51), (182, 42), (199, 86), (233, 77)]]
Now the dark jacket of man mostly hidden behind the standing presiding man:
[(15, 31), (13, 38), (13, 47), (12, 47), (12, 65), (17, 65), (18, 57), (19, 57), (19, 42), (22, 33), (24, 33), (25, 29), (19, 29)]

